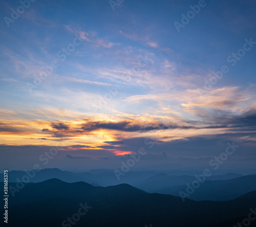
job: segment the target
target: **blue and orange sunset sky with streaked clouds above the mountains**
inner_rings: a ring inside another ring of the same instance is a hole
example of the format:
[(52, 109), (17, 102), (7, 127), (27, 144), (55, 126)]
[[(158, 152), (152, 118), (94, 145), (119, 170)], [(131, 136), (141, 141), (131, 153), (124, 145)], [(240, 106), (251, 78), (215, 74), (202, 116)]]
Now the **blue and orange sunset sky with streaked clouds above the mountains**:
[(255, 1), (33, 1), (1, 1), (0, 171), (201, 171), (228, 144), (220, 171), (255, 170)]

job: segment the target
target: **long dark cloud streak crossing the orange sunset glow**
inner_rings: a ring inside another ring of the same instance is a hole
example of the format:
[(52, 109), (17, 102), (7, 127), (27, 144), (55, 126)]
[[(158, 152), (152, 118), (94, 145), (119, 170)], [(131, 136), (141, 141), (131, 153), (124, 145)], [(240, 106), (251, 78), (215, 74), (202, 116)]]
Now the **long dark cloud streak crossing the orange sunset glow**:
[[(72, 128), (70, 125), (61, 122), (52, 122), (53, 130), (43, 129), (42, 132), (51, 132), (55, 137), (72, 137), (77, 134), (90, 134), (97, 130), (116, 130), (121, 132), (149, 132), (161, 131), (170, 129), (226, 129), (233, 128), (235, 130), (256, 130), (256, 111), (251, 110), (242, 115), (232, 115), (216, 111), (203, 121), (183, 121), (183, 124), (163, 124), (161, 122), (145, 123), (139, 120), (123, 120), (119, 122), (112, 121), (90, 121), (86, 119), (77, 128)], [(109, 145), (121, 145), (123, 141), (105, 141)]]

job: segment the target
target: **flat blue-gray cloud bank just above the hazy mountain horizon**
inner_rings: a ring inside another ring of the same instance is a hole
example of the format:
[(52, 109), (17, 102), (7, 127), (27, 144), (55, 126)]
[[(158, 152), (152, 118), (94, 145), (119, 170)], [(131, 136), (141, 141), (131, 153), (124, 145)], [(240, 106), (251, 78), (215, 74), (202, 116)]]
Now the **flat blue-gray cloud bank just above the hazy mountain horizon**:
[[(150, 144), (145, 144), (147, 138), (130, 138), (123, 139), (123, 144), (118, 146), (120, 151), (138, 152), (140, 147), (144, 147), (146, 154), (140, 157), (140, 161), (136, 163), (135, 168), (152, 169), (181, 169), (190, 171), (191, 168), (196, 169), (200, 173), (203, 169), (209, 168), (209, 161), (213, 157), (219, 156), (225, 152), (227, 142), (235, 141), (240, 147), (222, 166), (223, 169), (230, 171), (231, 168), (239, 166), (239, 168), (251, 171), (255, 168), (255, 147), (256, 142), (246, 143), (236, 141), (236, 135), (230, 134), (228, 138), (212, 135), (205, 137), (191, 137), (173, 141), (155, 141), (154, 146), (150, 148)], [(152, 140), (148, 140), (151, 142)], [(147, 142), (146, 142), (147, 143)], [(76, 145), (75, 145), (76, 146)], [(48, 166), (65, 169), (73, 163), (74, 168), (120, 168), (121, 161), (126, 162), (131, 159), (130, 155), (114, 155), (111, 150), (104, 149), (80, 149), (83, 145), (76, 146), (75, 149), (69, 149), (70, 146), (60, 147), (56, 157), (50, 160)], [(39, 160), (39, 156), (49, 152), (53, 146), (10, 146), (0, 145), (0, 153), (3, 159), (0, 159), (0, 166), (12, 169), (27, 169), (28, 166), (43, 163)], [(73, 147), (74, 148), (74, 147)], [(48, 167), (47, 166), (47, 167)], [(23, 170), (24, 170), (23, 169)]]

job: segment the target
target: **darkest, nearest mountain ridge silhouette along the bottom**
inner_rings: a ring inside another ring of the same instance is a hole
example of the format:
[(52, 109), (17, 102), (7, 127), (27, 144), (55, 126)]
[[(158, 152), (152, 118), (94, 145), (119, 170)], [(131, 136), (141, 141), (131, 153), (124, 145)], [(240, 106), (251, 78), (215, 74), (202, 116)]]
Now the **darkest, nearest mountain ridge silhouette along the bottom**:
[(256, 205), (256, 198), (251, 197), (183, 202), (180, 197), (147, 193), (127, 184), (94, 187), (58, 179), (28, 184), (11, 200), (8, 225), (20, 227), (63, 226), (61, 223), (77, 213), (81, 205), (91, 208), (75, 226), (233, 226)]

